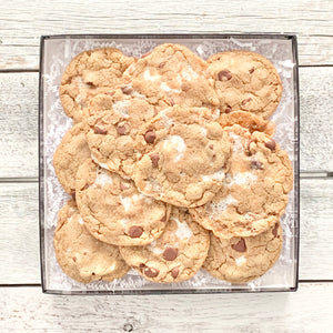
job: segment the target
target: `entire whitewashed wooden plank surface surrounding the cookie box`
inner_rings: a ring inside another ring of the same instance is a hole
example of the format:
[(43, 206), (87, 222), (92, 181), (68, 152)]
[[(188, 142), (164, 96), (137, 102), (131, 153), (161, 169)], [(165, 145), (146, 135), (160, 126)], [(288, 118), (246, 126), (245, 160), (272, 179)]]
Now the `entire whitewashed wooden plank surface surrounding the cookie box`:
[[(332, 332), (333, 1), (0, 1), (0, 332)], [(294, 32), (301, 88), (296, 293), (54, 296), (40, 289), (41, 34)]]

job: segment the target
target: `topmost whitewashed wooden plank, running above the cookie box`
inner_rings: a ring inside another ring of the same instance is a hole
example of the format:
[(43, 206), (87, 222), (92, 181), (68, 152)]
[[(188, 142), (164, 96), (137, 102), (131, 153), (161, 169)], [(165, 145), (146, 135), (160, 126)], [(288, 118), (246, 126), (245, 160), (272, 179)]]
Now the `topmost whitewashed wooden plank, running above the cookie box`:
[[(281, 1), (0, 2), (0, 69), (38, 69), (39, 37), (61, 33), (293, 32), (301, 64), (333, 63), (333, 2)], [(82, 27), (84, 27), (82, 29)]]

